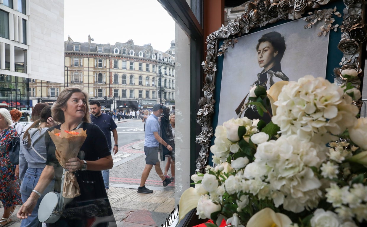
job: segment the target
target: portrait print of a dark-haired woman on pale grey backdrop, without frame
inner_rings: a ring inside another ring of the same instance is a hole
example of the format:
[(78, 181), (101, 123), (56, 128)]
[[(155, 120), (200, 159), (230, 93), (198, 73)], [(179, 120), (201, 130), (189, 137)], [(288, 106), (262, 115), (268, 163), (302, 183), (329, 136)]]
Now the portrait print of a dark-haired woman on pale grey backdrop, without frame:
[[(237, 38), (224, 54), (218, 125), (243, 117), (253, 85), (269, 89), (277, 81), (297, 81), (305, 75), (324, 77), (329, 33), (317, 36), (319, 26), (305, 29), (303, 19)], [(218, 81), (219, 82), (219, 81)]]

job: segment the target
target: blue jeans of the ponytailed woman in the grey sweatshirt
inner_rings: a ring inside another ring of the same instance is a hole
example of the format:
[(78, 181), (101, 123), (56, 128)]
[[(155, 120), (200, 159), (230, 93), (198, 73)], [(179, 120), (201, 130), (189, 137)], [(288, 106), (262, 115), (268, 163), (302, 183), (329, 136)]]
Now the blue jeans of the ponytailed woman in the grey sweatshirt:
[[(20, 193), (22, 194), (22, 202), (24, 203), (32, 193), (34, 187), (36, 187), (38, 180), (40, 179), (41, 173), (44, 168), (27, 168), (25, 172), (21, 187)], [(47, 186), (47, 188), (42, 193), (42, 196), (37, 200), (36, 206), (34, 206), (33, 212), (31, 216), (23, 219), (21, 223), (21, 227), (41, 227), (42, 223), (38, 220), (38, 208), (40, 206), (41, 200), (43, 197), (54, 190), (55, 179), (51, 181), (51, 183)]]

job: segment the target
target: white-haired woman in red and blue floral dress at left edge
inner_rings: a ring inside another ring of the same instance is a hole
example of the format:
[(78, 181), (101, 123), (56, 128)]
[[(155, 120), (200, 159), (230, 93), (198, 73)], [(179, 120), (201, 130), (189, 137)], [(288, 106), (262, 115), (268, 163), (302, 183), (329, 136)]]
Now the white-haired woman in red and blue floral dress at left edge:
[(10, 223), (12, 220), (9, 217), (14, 212), (15, 206), (22, 205), (15, 165), (11, 164), (7, 152), (12, 136), (18, 136), (17, 130), (11, 127), (11, 124), (9, 111), (0, 108), (0, 200), (4, 206), (0, 227)]

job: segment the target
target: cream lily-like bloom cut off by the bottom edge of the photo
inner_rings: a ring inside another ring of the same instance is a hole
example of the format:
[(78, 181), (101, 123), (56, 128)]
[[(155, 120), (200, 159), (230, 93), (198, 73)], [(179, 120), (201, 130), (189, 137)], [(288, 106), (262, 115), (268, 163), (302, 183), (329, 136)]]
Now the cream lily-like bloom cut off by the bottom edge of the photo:
[(270, 208), (264, 208), (255, 213), (247, 222), (246, 227), (288, 227), (292, 224), (291, 219), (282, 213), (275, 213)]

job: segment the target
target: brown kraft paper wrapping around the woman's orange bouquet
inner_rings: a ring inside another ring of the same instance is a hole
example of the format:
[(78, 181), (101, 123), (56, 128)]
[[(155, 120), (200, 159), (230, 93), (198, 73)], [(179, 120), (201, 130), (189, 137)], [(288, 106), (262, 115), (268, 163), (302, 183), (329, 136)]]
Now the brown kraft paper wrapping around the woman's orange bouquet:
[[(66, 169), (65, 164), (70, 158), (78, 156), (80, 147), (87, 138), (87, 131), (83, 130), (83, 128), (75, 129), (73, 132), (78, 132), (79, 134), (73, 135), (56, 128), (52, 132), (48, 131), (56, 147), (56, 158), (64, 169)], [(60, 133), (60, 135), (55, 135), (55, 133)], [(62, 196), (64, 198), (75, 198), (79, 195), (80, 189), (76, 176), (74, 173), (66, 171)]]

